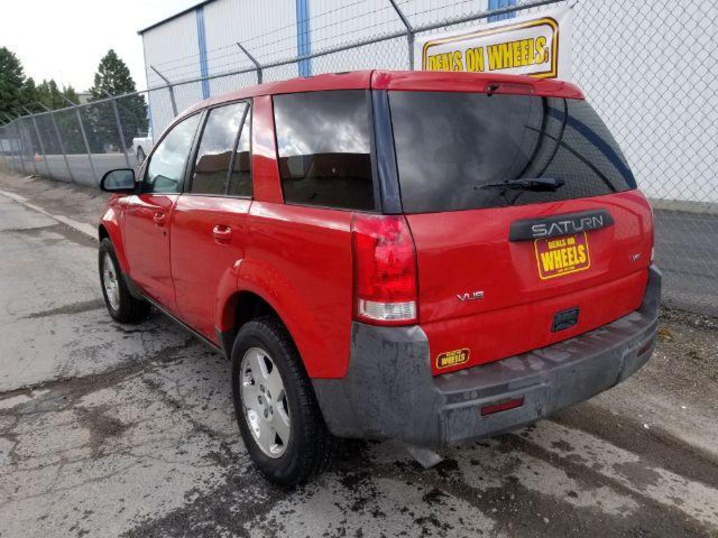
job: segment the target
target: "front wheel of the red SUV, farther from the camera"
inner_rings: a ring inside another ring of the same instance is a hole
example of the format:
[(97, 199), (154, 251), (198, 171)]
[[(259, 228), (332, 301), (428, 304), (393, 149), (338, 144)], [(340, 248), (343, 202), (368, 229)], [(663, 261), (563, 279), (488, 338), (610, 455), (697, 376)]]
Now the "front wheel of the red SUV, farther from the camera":
[(100, 242), (98, 266), (102, 295), (110, 316), (121, 324), (136, 324), (146, 318), (150, 310), (149, 303), (131, 295), (117, 261), (115, 248), (107, 237)]

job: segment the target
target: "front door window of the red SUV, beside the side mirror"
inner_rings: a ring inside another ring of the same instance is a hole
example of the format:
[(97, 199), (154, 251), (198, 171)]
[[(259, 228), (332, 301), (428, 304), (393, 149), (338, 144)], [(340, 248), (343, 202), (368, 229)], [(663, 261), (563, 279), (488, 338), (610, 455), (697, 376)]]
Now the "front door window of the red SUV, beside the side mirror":
[(200, 114), (192, 115), (162, 138), (147, 164), (142, 192), (174, 193), (182, 190), (185, 164), (199, 123)]

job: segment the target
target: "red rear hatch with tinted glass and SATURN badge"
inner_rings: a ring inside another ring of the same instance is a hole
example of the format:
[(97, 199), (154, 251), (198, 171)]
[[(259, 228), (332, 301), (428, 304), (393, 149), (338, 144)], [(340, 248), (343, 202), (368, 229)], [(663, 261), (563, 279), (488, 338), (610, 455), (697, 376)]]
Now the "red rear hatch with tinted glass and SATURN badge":
[(640, 306), (651, 208), (589, 103), (390, 91), (389, 105), (435, 374)]

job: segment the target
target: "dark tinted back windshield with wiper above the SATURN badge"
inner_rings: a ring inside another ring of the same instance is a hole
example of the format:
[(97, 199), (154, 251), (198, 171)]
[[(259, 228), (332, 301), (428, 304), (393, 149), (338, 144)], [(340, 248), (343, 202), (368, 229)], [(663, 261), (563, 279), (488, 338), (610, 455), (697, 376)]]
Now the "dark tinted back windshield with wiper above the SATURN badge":
[[(635, 189), (620, 148), (584, 100), (390, 92), (389, 105), (405, 212), (556, 202)], [(559, 187), (519, 186), (538, 178)]]

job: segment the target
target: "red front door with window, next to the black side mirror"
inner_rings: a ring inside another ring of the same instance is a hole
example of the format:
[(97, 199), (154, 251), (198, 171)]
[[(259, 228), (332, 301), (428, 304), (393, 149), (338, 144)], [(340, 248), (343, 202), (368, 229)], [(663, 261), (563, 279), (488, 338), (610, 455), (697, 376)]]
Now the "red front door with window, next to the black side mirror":
[(139, 194), (125, 209), (125, 251), (130, 276), (147, 296), (168, 311), (177, 310), (169, 268), (169, 220), (182, 192), (200, 114), (177, 123), (149, 156)]

